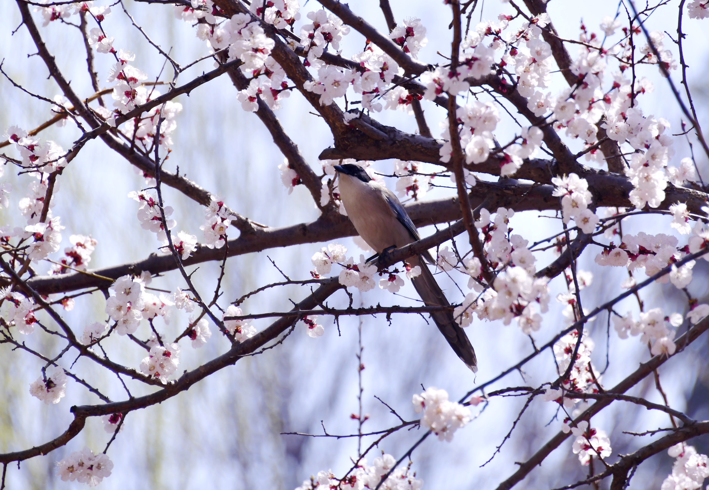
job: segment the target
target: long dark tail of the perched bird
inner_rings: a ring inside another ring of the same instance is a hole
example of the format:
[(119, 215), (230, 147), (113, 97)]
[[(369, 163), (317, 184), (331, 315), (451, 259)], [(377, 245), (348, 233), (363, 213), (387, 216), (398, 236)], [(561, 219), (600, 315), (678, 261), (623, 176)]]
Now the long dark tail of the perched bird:
[[(421, 274), (414, 277), (412, 282), (413, 287), (426, 306), (450, 306), (435, 277), (428, 269), (428, 265), (421, 260), (421, 257), (410, 257), (407, 262), (411, 263), (412, 267), (417, 265), (421, 267)], [(475, 350), (461, 326), (456, 323), (453, 312), (436, 311), (431, 313), (431, 318), (433, 318), (438, 330), (441, 331), (445, 340), (452, 347), (453, 352), (460, 357), (472, 372), (477, 372), (478, 361), (475, 357)]]

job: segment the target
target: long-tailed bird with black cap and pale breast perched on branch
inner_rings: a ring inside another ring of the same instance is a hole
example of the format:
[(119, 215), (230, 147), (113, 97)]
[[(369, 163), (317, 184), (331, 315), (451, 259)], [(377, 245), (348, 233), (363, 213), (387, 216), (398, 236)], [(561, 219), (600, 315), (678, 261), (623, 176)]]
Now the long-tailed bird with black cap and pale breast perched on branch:
[[(340, 199), (347, 210), (347, 216), (359, 236), (377, 254), (420, 239), (416, 226), (392, 191), (374, 182), (359, 165), (335, 165), (335, 170), (340, 178)], [(426, 306), (450, 306), (428, 269), (427, 261), (435, 264), (428, 251), (417, 257), (408, 257), (407, 262), (412, 267), (418, 265), (421, 269), (421, 274), (412, 279), (413, 287)], [(437, 311), (431, 313), (431, 317), (458, 357), (473, 372), (477, 372), (475, 350), (455, 321), (453, 312)]]

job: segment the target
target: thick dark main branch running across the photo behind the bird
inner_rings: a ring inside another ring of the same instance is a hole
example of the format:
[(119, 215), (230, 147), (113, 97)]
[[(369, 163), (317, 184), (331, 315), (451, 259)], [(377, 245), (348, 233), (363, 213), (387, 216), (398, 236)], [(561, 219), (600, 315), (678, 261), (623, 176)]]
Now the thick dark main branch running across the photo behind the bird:
[[(167, 182), (164, 170), (162, 177)], [(603, 172), (598, 181), (588, 176), (589, 188), (598, 193), (596, 206), (630, 206), (627, 201), (627, 189), (621, 184), (627, 184), (625, 179)], [(471, 207), (479, 206), (485, 199), (489, 199), (491, 194), (494, 198), (490, 201), (490, 208), (496, 209), (498, 206), (513, 208), (515, 211), (530, 210), (558, 210), (559, 199), (552, 196), (553, 186), (532, 185), (532, 184), (491, 184), (478, 182), (470, 190)], [(691, 189), (673, 188), (669, 186), (667, 198), (661, 208), (667, 209), (677, 201), (687, 202), (693, 209), (693, 213), (700, 212), (704, 206), (705, 194)], [(460, 206), (457, 199), (437, 199), (435, 201), (423, 201), (406, 204), (406, 211), (417, 226), (425, 226), (437, 223), (456, 221), (460, 218)], [(260, 252), (273, 247), (287, 247), (301, 243), (320, 243), (335, 240), (345, 236), (356, 235), (357, 232), (345, 216), (334, 214), (332, 216), (320, 216), (312, 223), (300, 223), (298, 225), (286, 226), (283, 228), (256, 228), (254, 233), (243, 233), (238, 238), (229, 240), (228, 255), (243, 255), (250, 252)], [(580, 235), (583, 237), (583, 235)], [(578, 256), (587, 243), (574, 240), (571, 243), (571, 251)], [(569, 259), (567, 252), (564, 252), (557, 261), (546, 269), (542, 269), (538, 274), (547, 277), (556, 277), (566, 267)], [(199, 247), (189, 259), (184, 261), (185, 265), (195, 265), (200, 262), (211, 260), (223, 260), (223, 253), (220, 250), (208, 247)], [(55, 276), (37, 276), (28, 280), (34, 289), (40, 294), (54, 294), (66, 291), (74, 291), (88, 287), (108, 287), (110, 282), (100, 277), (117, 279), (125, 274), (140, 274), (149, 271), (152, 274), (159, 274), (174, 269), (172, 257), (166, 255), (153, 254), (144, 260), (131, 262), (128, 264), (104, 267), (102, 269), (91, 269), (89, 274), (75, 272), (72, 274), (61, 274)], [(6, 279), (0, 278), (0, 286), (5, 286)]]

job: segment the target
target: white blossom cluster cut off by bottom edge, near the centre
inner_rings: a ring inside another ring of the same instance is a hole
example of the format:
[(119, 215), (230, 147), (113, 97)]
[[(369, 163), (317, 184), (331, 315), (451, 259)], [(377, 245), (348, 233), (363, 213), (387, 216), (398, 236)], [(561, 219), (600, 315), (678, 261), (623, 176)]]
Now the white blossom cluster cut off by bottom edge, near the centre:
[(316, 477), (303, 481), (296, 490), (364, 490), (374, 489), (379, 486), (382, 490), (419, 490), (423, 487), (423, 480), (417, 479), (415, 474), (409, 474), (410, 466), (396, 468), (384, 481), (384, 475), (389, 473), (396, 464), (396, 459), (392, 455), (384, 454), (374, 458), (372, 466), (367, 464), (367, 459), (363, 458), (357, 463), (357, 467), (342, 479), (337, 479), (332, 471), (318, 472)]

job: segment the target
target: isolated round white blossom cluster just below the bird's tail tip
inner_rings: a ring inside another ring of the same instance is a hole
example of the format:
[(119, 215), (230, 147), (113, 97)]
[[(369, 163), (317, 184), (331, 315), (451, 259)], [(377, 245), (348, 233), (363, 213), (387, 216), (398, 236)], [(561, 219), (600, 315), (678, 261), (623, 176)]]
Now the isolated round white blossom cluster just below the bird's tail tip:
[(421, 425), (432, 430), (438, 440), (453, 440), (453, 434), (470, 421), (470, 409), (467, 406), (450, 401), (445, 389), (428, 387), (411, 400), (413, 409), (421, 414)]

